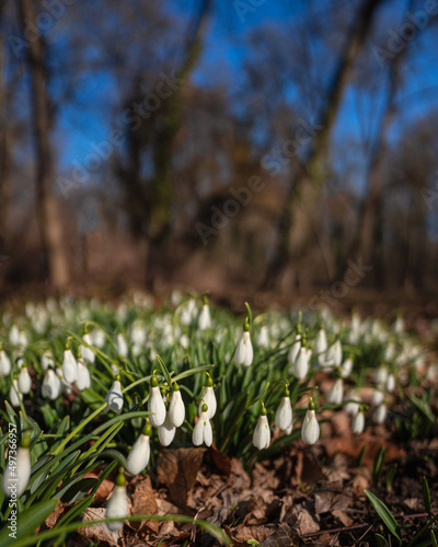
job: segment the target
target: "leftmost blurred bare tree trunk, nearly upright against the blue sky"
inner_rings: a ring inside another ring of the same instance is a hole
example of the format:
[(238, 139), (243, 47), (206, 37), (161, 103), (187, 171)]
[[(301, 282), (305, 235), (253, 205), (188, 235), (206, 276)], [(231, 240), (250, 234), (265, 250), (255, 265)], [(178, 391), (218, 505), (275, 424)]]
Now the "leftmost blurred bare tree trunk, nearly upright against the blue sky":
[[(35, 21), (33, 0), (20, 0), (21, 20)], [(59, 203), (53, 193), (54, 160), (50, 146), (51, 107), (48, 96), (48, 75), (44, 55), (44, 38), (28, 42), (27, 63), (32, 81), (32, 107), (36, 148), (36, 213), (48, 275), (53, 288), (64, 291), (69, 283), (69, 268), (64, 242)]]

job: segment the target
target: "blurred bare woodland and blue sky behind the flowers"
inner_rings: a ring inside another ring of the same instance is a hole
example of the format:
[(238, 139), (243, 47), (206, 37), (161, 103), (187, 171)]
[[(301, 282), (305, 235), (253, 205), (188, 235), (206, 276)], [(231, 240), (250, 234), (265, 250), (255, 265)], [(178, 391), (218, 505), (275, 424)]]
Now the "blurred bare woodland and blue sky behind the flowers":
[(437, 294), (438, 1), (2, 0), (0, 33), (3, 295)]

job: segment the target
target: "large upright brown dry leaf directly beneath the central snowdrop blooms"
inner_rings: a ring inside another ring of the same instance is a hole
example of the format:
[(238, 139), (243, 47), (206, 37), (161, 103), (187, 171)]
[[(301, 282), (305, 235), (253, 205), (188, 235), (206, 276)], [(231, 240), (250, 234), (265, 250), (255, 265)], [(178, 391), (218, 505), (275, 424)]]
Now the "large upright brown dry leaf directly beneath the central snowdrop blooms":
[(160, 452), (157, 478), (169, 489), (169, 497), (178, 507), (185, 507), (187, 494), (195, 486), (196, 475), (206, 449), (177, 449)]

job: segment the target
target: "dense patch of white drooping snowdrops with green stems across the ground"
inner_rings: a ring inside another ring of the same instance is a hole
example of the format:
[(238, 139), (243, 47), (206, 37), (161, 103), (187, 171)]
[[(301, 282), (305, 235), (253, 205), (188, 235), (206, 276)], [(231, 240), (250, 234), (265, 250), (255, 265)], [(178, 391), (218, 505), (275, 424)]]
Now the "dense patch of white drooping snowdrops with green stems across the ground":
[[(2, 316), (0, 387), (12, 407), (26, 412), (26, 398), (36, 393), (48, 401), (77, 396), (87, 404), (112, 377), (102, 400), (90, 409), (100, 410), (99, 416), (120, 415), (126, 396), (141, 391), (136, 408), (145, 405), (147, 417), (127, 446), (126, 466), (107, 503), (111, 529), (123, 526), (114, 519), (128, 514), (125, 470), (137, 475), (148, 467), (154, 430), (162, 446), (170, 446), (182, 428), (195, 446), (215, 442), (224, 452), (245, 446), (244, 455), (251, 453), (249, 443), (242, 444), (250, 433), (242, 437), (245, 427), (252, 428), (252, 445), (258, 451), (272, 446), (273, 432), (277, 444), (297, 439), (298, 422), (302, 441), (314, 444), (320, 438), (318, 415), (330, 407), (350, 415), (351, 430), (360, 434), (368, 419), (385, 421), (405, 369), (427, 361), (424, 349), (405, 335), (400, 315), (391, 326), (358, 314), (344, 325), (327, 311), (319, 316), (270, 312), (253, 318), (247, 305), (242, 325), (242, 319), (211, 310), (205, 298), (181, 300), (174, 294), (172, 303), (157, 313), (140, 296), (116, 310), (50, 300), (28, 304), (22, 317)], [(367, 363), (373, 387), (367, 400), (360, 389), (370, 386), (361, 362), (365, 353), (373, 360)], [(325, 394), (315, 383), (322, 373), (332, 380)], [(436, 376), (437, 366), (430, 364), (427, 374)], [(134, 408), (134, 398), (129, 404)], [(234, 418), (224, 431), (221, 415)], [(28, 431), (23, 431), (16, 463), (5, 464), (3, 472), (7, 498), (11, 482), (19, 497), (26, 491), (31, 444)]]

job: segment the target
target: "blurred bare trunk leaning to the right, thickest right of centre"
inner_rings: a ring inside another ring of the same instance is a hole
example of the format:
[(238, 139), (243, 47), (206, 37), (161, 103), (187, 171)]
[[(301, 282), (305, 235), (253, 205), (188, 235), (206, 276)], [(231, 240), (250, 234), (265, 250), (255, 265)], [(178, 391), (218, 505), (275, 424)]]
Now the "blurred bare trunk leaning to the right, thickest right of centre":
[[(348, 31), (345, 46), (328, 85), (323, 110), (310, 150), (295, 181), (291, 181), (285, 207), (278, 218), (278, 241), (268, 264), (263, 289), (273, 288), (289, 260), (295, 261), (306, 253), (312, 229), (314, 207), (324, 182), (322, 160), (325, 156), (332, 127), (350, 79), (354, 62), (368, 35), (373, 14), (380, 0), (365, 0)], [(293, 232), (293, 240), (292, 240)]]

